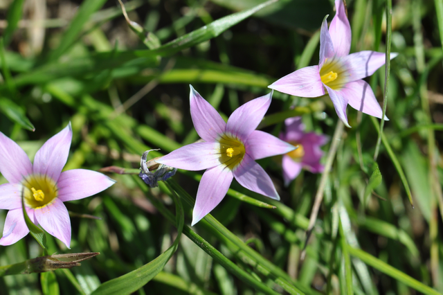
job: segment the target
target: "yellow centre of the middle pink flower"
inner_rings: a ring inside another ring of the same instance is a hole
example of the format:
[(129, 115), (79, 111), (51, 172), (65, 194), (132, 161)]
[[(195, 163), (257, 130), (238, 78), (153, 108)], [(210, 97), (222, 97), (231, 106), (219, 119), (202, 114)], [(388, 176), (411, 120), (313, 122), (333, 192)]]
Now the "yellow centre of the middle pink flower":
[(219, 138), (219, 143), (220, 163), (230, 170), (233, 170), (242, 161), (246, 153), (244, 144), (242, 141), (228, 134), (223, 134)]

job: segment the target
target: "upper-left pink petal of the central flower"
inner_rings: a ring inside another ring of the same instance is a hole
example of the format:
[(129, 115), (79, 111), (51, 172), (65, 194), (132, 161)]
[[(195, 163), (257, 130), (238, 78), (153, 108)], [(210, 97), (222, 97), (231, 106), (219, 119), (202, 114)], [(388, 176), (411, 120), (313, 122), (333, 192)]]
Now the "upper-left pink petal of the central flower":
[(226, 123), (214, 107), (202, 98), (192, 85), (189, 86), (191, 88), (189, 94), (191, 117), (195, 130), (204, 141), (215, 141), (220, 134), (224, 133)]

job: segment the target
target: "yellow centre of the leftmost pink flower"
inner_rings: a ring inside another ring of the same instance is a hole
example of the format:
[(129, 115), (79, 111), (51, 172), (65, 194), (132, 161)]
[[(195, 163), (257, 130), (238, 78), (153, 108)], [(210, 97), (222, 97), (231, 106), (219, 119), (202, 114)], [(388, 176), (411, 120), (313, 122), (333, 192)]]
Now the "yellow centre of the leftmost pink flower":
[(46, 175), (28, 175), (23, 181), (25, 203), (38, 209), (51, 204), (57, 197), (57, 184)]

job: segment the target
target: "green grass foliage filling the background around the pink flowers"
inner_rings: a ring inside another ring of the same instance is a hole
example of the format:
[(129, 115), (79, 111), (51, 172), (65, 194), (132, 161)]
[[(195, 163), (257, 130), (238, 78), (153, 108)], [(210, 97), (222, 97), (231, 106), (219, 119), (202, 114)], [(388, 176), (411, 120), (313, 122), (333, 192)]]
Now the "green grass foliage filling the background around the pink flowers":
[[(73, 212), (72, 249), (24, 211), (35, 239), (0, 248), (0, 290), (443, 292), (441, 0), (393, 1), (392, 24), (386, 14), (391, 1), (347, 1), (351, 52), (399, 53), (368, 79), (390, 120), (380, 124), (348, 107), (352, 129), (334, 138), (338, 118), (327, 96), (274, 91), (258, 129), (278, 135), (284, 119), (302, 116), (309, 132), (329, 136), (323, 163), (336, 149), (331, 170), (323, 178), (303, 171), (284, 187), (281, 157), (261, 160), (281, 202), (234, 182), (219, 206), (192, 227), (201, 172), (179, 170), (152, 189), (136, 175), (115, 172), (137, 173), (145, 150), (160, 148), (149, 157), (161, 157), (199, 139), (188, 84), (226, 119), (269, 93), (276, 79), (318, 64), (318, 28), (325, 15), (332, 20), (332, 1), (136, 0), (123, 3), (126, 19), (113, 1), (48, 1), (46, 17), (31, 13), (37, 10), (24, 1), (7, 2), (0, 8), (7, 21), (0, 42), (0, 131), (33, 159), (44, 140), (71, 121), (66, 169), (116, 166), (107, 173), (117, 183), (66, 202)], [(55, 3), (66, 6), (55, 9)], [(307, 241), (320, 184), (323, 202)], [(6, 212), (0, 211), (0, 225)], [(19, 275), (44, 251), (100, 255), (73, 269)], [(6, 276), (11, 265), (17, 275)]]

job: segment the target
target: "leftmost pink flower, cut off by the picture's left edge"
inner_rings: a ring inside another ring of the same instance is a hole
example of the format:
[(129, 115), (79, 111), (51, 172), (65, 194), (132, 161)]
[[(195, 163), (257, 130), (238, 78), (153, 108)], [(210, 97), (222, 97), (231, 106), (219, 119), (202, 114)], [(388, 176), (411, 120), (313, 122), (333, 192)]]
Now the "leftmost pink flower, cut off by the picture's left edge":
[(21, 206), (22, 191), (30, 220), (69, 248), (71, 221), (63, 202), (95, 195), (115, 183), (106, 175), (91, 170), (62, 172), (71, 139), (69, 123), (44, 143), (32, 164), (24, 150), (0, 132), (0, 172), (9, 181), (0, 186), (0, 209), (9, 210), (1, 245), (14, 244), (29, 233)]

